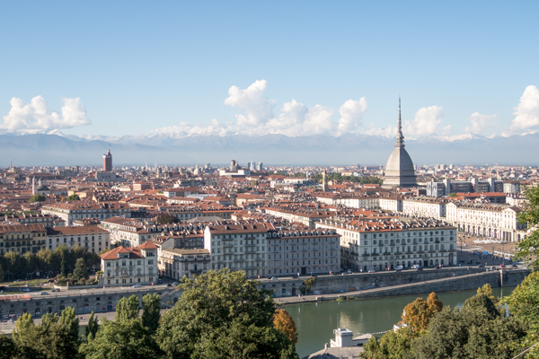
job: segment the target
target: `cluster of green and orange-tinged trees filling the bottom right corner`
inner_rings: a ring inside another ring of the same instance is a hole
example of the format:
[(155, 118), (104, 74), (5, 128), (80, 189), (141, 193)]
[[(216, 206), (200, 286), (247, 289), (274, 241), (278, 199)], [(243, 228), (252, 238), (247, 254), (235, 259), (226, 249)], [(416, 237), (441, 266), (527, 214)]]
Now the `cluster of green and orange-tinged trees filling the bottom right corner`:
[[(404, 308), (407, 327), (372, 337), (362, 358), (442, 359), (513, 358), (537, 342), (539, 325), (538, 272), (504, 301), (494, 298), (490, 285), (479, 288), (461, 308), (443, 307), (435, 293)], [(508, 304), (507, 312), (503, 304)], [(510, 313), (510, 314), (509, 314)], [(526, 358), (539, 357), (532, 349)]]

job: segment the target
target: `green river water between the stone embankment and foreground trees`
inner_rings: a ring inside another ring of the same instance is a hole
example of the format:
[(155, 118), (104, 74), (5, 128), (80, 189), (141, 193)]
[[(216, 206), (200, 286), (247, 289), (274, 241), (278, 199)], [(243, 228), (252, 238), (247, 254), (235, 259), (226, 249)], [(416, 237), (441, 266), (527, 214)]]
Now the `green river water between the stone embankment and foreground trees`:
[[(515, 287), (494, 288), (495, 296), (507, 296)], [(437, 293), (444, 305), (462, 305), (477, 291), (459, 293)], [(296, 322), (298, 341), (296, 351), (300, 358), (323, 349), (324, 343), (334, 338), (333, 329), (349, 328), (358, 333), (376, 333), (393, 328), (401, 320), (406, 304), (416, 298), (427, 299), (429, 294), (407, 295), (401, 297), (376, 298), (361, 301), (328, 301), (290, 304), (284, 308)]]

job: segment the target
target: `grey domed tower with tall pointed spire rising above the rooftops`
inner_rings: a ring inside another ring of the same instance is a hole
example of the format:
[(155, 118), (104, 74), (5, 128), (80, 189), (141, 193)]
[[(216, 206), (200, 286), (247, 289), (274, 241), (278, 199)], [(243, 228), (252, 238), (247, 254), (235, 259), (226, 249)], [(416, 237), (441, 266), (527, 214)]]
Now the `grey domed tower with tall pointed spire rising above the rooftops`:
[(404, 149), (404, 136), (401, 126), (401, 98), (399, 97), (399, 125), (395, 137), (395, 148), (389, 156), (384, 171), (385, 188), (417, 186), (413, 162)]

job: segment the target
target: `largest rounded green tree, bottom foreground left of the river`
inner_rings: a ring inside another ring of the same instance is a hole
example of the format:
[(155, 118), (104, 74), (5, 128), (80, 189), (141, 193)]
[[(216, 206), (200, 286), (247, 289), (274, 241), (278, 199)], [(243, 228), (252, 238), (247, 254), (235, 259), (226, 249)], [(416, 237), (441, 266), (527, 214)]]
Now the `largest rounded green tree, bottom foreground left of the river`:
[(288, 337), (273, 325), (271, 293), (257, 285), (227, 268), (184, 277), (181, 297), (156, 332), (166, 357), (297, 358)]

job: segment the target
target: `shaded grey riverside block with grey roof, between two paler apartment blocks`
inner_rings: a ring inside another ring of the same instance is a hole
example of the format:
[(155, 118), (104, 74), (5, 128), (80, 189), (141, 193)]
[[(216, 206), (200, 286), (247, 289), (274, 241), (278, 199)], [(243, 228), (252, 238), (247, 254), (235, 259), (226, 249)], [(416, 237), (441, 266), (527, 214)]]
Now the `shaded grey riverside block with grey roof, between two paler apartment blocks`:
[(335, 230), (269, 231), (268, 276), (340, 272), (340, 235)]

